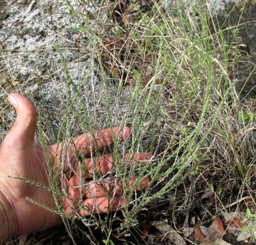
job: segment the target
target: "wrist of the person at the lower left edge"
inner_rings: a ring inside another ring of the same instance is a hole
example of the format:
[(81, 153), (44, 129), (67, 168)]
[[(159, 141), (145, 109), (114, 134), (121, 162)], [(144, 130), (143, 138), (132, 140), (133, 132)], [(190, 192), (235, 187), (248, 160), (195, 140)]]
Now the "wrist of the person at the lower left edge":
[(0, 242), (17, 235), (17, 220), (14, 207), (0, 191)]

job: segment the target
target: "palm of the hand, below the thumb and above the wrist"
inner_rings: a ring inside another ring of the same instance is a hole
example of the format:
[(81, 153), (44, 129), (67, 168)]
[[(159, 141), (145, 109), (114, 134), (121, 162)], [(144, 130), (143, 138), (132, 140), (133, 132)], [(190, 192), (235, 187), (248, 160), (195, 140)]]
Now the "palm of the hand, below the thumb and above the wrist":
[(17, 177), (24, 178), (48, 185), (42, 149), (35, 145), (35, 141), (23, 141), (21, 144), (13, 141), (10, 145), (5, 142), (8, 142), (8, 138), (4, 140), (0, 149), (1, 162), (5, 163), (2, 165), (4, 176), (0, 179), (0, 186), (4, 186), (1, 188), (1, 192), (13, 207), (17, 233), (19, 235), (27, 234), (31, 230), (45, 230), (56, 225), (60, 222), (57, 215), (26, 200), (28, 197), (47, 207), (54, 207), (52, 193), (45, 188), (17, 179)]

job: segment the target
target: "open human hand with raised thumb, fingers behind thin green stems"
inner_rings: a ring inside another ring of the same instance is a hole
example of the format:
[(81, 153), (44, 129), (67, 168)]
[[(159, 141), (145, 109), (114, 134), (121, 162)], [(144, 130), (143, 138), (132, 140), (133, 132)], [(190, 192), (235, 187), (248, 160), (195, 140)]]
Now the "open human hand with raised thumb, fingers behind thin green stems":
[[(34, 231), (42, 231), (61, 223), (61, 218), (48, 210), (27, 201), (29, 197), (49, 208), (55, 207), (53, 193), (43, 187), (30, 185), (17, 178), (30, 179), (45, 186), (49, 186), (46, 157), (41, 147), (35, 143), (35, 130), (37, 115), (32, 103), (24, 96), (10, 94), (8, 100), (14, 106), (17, 117), (11, 130), (0, 146), (0, 240), (7, 240), (12, 236), (24, 235)], [(112, 135), (113, 132), (113, 135)], [(125, 140), (130, 133), (128, 127), (123, 129), (113, 128), (97, 131), (94, 137), (88, 133), (73, 139), (76, 154), (90, 154), (91, 150), (102, 149), (113, 143), (113, 138), (119, 136)], [(89, 139), (89, 141), (88, 141)], [(47, 147), (52, 165), (61, 167), (61, 150), (63, 146), (51, 145)], [(57, 154), (56, 154), (57, 152)], [(73, 158), (73, 150), (68, 149), (69, 159)], [(55, 159), (57, 156), (57, 159)], [(122, 161), (126, 160), (125, 155)], [(132, 156), (129, 156), (133, 159)], [(150, 158), (150, 154), (137, 154), (136, 163)], [(94, 163), (94, 164), (92, 164)], [(87, 158), (85, 168), (87, 169), (85, 189), (75, 188), (81, 184), (80, 166), (70, 167), (69, 163), (64, 166), (68, 172), (66, 179), (62, 179), (61, 191), (69, 198), (64, 198), (64, 211), (73, 214), (77, 202), (82, 203), (86, 209), (78, 210), (81, 216), (90, 213), (104, 213), (108, 210), (115, 210), (125, 202), (120, 196), (122, 186), (115, 183), (113, 188), (110, 180), (102, 184), (97, 181), (88, 180), (92, 178), (93, 166), (101, 175), (107, 174), (112, 167), (112, 156), (110, 154), (99, 157), (98, 160)], [(58, 166), (59, 165), (59, 166)], [(9, 176), (17, 177), (10, 178)], [(131, 179), (128, 185), (133, 185), (135, 178)], [(145, 178), (137, 190), (148, 185), (148, 178)], [(95, 185), (96, 183), (96, 185)], [(106, 188), (105, 188), (106, 187)], [(111, 189), (112, 198), (106, 195), (106, 189)], [(67, 193), (65, 193), (67, 192)]]

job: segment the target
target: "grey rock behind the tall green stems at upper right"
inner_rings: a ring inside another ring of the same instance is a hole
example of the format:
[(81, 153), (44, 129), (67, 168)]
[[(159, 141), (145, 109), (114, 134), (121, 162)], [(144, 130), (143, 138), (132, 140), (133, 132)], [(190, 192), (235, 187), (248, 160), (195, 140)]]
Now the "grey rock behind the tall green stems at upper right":
[[(166, 0), (164, 8), (172, 8), (172, 0)], [(183, 0), (190, 8), (190, 1)], [(237, 69), (230, 71), (230, 77), (237, 82), (237, 91), (241, 96), (255, 98), (256, 96), (256, 0), (209, 0), (208, 6), (215, 25), (227, 31), (224, 35), (227, 37), (230, 32), (235, 32), (242, 51), (237, 63)], [(242, 17), (241, 17), (241, 13)], [(241, 18), (240, 18), (241, 17)], [(241, 25), (236, 28), (230, 28)], [(212, 33), (215, 28), (211, 26)], [(232, 35), (231, 35), (232, 36)], [(234, 40), (227, 38), (227, 44)]]

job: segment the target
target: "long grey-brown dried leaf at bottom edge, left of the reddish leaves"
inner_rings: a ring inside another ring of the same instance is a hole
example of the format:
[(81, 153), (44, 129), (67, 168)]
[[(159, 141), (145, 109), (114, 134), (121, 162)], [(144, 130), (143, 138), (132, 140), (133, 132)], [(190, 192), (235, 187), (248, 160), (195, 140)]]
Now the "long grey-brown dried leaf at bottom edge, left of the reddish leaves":
[(175, 245), (186, 245), (185, 240), (177, 233), (174, 228), (172, 228), (165, 221), (155, 221), (151, 223), (156, 229), (158, 229), (162, 234), (166, 234), (166, 237)]

